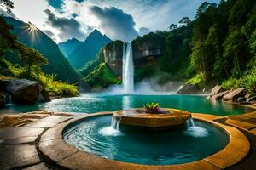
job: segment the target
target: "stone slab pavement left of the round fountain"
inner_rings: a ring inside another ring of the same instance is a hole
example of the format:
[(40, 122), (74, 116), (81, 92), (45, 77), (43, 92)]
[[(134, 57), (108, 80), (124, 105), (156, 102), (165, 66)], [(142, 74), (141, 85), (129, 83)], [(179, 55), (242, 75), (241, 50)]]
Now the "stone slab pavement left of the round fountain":
[(73, 117), (77, 116), (46, 111), (0, 116), (0, 169), (59, 169), (46, 163), (38, 141), (47, 129)]

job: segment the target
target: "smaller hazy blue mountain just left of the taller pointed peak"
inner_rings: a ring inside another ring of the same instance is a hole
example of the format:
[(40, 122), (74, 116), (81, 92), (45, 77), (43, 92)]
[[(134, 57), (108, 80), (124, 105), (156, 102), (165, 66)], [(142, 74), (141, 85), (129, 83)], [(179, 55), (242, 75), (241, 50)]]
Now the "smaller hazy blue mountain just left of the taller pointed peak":
[(61, 49), (62, 54), (64, 54), (66, 57), (68, 54), (71, 54), (73, 50), (78, 47), (83, 42), (79, 41), (76, 38), (72, 38), (67, 40), (66, 42), (59, 43), (59, 48)]

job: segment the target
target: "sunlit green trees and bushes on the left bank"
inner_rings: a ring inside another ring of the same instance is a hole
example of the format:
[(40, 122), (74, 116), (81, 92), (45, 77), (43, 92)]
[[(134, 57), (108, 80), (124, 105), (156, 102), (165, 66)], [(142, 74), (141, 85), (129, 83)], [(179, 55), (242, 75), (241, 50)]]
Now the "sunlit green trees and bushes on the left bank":
[[(11, 8), (13, 8), (12, 3), (7, 6), (8, 10), (11, 10)], [(37, 29), (31, 23), (27, 26), (28, 31), (36, 31)], [(79, 94), (76, 86), (55, 81), (57, 75), (45, 73), (42, 67), (50, 65), (51, 60), (45, 58), (37, 49), (29, 48), (26, 44), (20, 42), (13, 30), (14, 26), (9, 25), (6, 18), (0, 16), (1, 77), (18, 77), (38, 81), (52, 96), (75, 96)], [(19, 61), (13, 62), (15, 58), (18, 58)]]

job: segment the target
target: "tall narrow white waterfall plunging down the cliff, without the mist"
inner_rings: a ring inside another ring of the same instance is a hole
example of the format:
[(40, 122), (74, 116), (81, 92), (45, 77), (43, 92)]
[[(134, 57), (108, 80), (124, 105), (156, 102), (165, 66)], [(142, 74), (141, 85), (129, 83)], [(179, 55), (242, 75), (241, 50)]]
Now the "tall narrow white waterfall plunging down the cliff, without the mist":
[(134, 65), (132, 54), (132, 43), (124, 42), (123, 44), (123, 87), (125, 94), (133, 93), (134, 89)]

